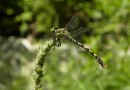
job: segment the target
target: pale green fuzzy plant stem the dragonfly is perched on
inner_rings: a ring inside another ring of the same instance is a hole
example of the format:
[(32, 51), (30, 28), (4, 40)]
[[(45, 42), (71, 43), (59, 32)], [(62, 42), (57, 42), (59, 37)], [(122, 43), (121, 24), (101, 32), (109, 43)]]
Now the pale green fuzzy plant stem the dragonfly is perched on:
[(43, 45), (40, 46), (39, 52), (37, 54), (36, 60), (35, 60), (35, 68), (33, 73), (34, 78), (34, 90), (41, 90), (41, 79), (44, 76), (43, 75), (43, 66), (45, 62), (45, 57), (47, 56), (47, 53), (52, 49), (55, 48), (55, 40), (49, 39), (46, 41)]

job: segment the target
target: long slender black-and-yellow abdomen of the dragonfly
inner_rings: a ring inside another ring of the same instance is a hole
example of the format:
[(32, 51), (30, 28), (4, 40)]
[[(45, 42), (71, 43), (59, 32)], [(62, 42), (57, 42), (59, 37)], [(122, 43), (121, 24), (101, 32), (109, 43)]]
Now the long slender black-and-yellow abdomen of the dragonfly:
[(84, 45), (81, 43), (77, 42), (75, 39), (73, 39), (71, 36), (68, 36), (68, 38), (74, 42), (75, 44), (79, 45), (80, 47), (84, 48), (87, 52), (89, 52), (91, 55), (93, 55), (96, 59), (96, 61), (102, 66), (103, 69), (106, 68), (105, 63), (99, 58), (93, 51), (91, 51), (89, 48), (86, 48)]

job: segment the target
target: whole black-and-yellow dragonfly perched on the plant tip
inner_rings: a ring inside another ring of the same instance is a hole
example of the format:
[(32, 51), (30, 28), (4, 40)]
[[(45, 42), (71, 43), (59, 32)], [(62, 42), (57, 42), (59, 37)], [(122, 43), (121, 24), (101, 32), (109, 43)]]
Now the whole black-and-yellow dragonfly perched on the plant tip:
[(79, 19), (75, 15), (66, 24), (65, 28), (52, 28), (51, 29), (51, 32), (54, 34), (56, 45), (58, 47), (61, 46), (61, 42), (60, 42), (61, 38), (65, 38), (65, 39), (77, 44), (78, 46), (82, 47), (83, 49), (85, 49), (85, 51), (89, 52), (92, 56), (94, 56), (96, 61), (102, 66), (103, 69), (106, 68), (105, 63), (102, 61), (102, 59), (97, 54), (95, 54), (92, 50), (85, 47), (83, 44), (79, 43), (78, 41), (76, 41), (73, 38), (86, 31), (87, 31), (86, 27), (79, 26)]

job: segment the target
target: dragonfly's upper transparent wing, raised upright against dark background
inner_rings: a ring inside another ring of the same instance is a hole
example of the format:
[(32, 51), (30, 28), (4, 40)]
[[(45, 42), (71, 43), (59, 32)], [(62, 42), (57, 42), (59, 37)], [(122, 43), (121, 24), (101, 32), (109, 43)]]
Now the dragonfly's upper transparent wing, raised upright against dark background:
[(73, 16), (71, 18), (71, 20), (66, 24), (65, 28), (68, 30), (68, 31), (72, 31), (72, 30), (75, 30), (77, 29), (79, 26), (79, 19), (77, 16)]

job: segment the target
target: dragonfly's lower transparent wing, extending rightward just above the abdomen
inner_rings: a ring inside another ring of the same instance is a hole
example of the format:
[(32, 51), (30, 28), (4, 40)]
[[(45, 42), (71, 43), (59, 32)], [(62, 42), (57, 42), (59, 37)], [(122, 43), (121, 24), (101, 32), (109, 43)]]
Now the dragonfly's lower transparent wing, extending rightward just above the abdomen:
[(71, 35), (73, 38), (76, 38), (76, 37), (78, 37), (78, 36), (80, 36), (80, 35), (82, 35), (82, 34), (88, 32), (88, 31), (89, 31), (89, 29), (88, 29), (87, 27), (80, 27), (80, 28), (78, 28), (78, 29), (76, 29), (76, 30), (71, 31), (71, 32), (70, 32), (70, 35)]

